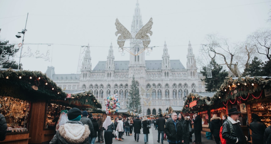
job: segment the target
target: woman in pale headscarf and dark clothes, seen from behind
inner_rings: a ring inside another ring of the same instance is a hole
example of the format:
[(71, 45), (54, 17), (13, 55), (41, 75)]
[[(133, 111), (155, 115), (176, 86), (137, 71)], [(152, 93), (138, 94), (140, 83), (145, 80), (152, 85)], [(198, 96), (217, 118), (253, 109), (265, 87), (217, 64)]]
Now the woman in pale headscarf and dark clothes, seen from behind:
[(107, 116), (102, 124), (104, 131), (105, 144), (112, 144), (112, 133), (115, 129), (114, 123), (111, 121), (111, 117)]

